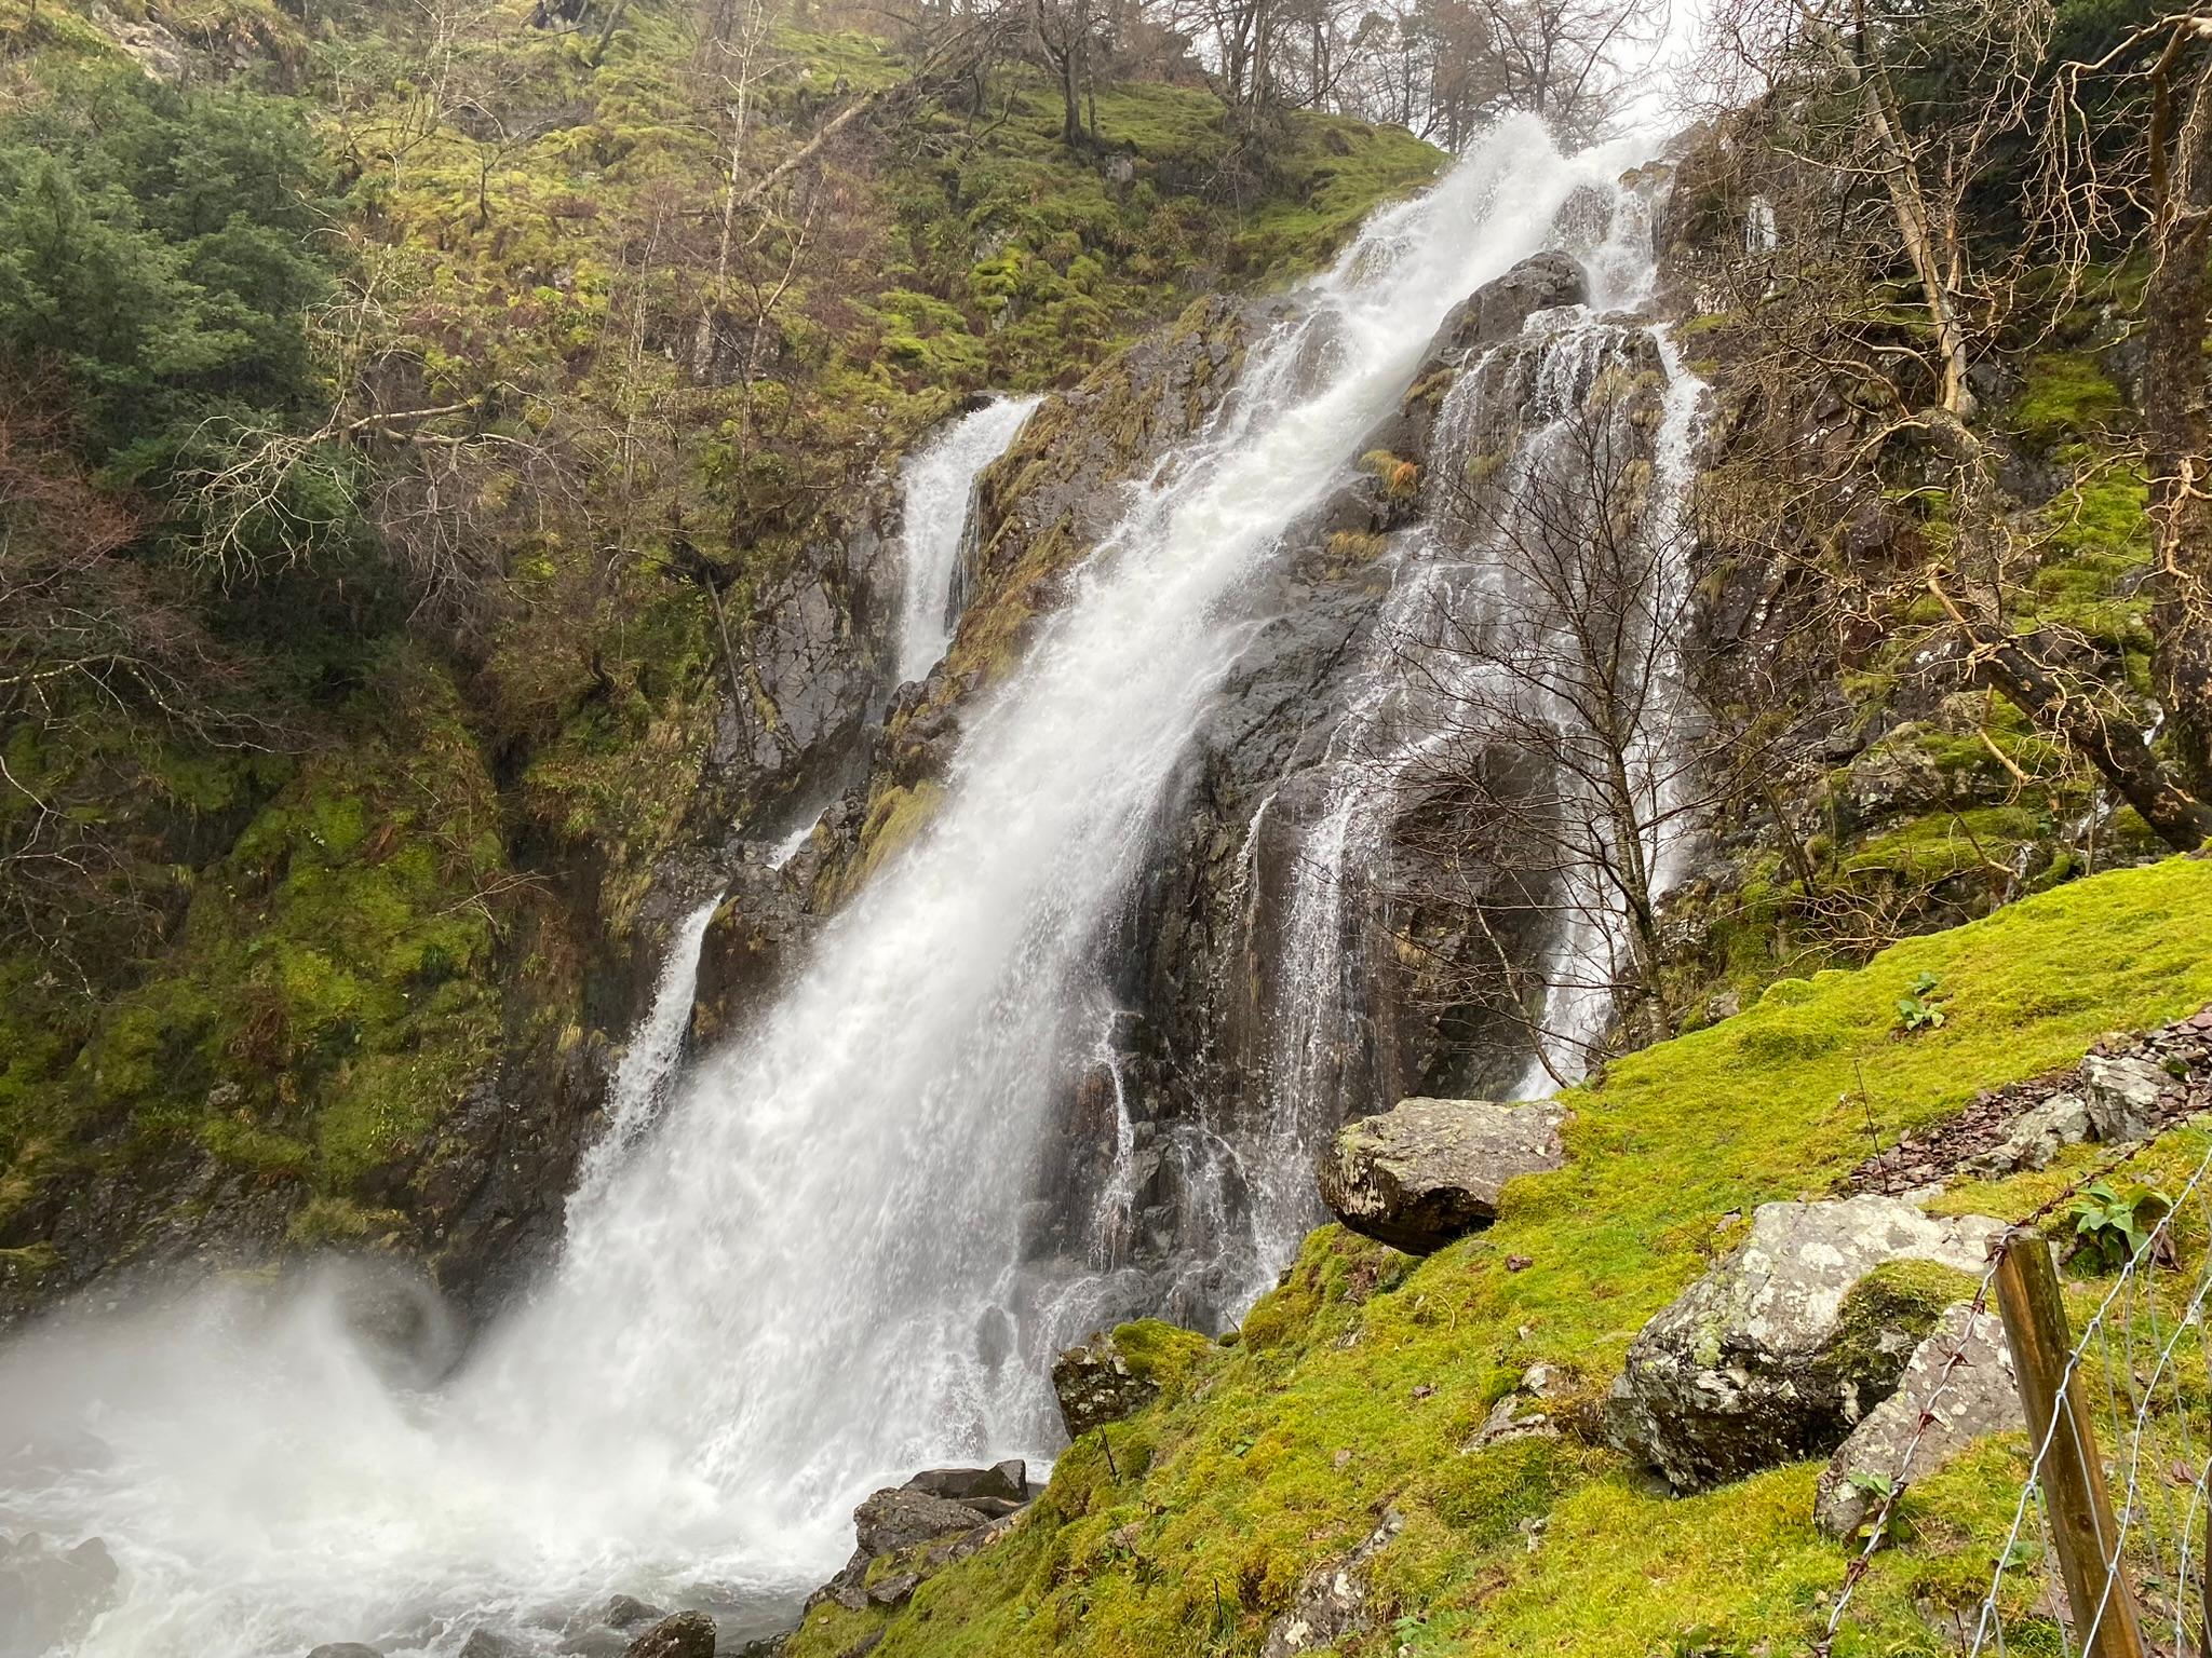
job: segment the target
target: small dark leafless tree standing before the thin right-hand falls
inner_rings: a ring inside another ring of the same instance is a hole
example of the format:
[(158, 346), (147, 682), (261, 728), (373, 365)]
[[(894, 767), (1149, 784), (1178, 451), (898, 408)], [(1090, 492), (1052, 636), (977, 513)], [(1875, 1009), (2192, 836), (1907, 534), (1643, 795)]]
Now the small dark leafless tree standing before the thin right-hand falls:
[(1615, 369), (1478, 464), (1453, 511), (1482, 577), (1400, 648), (1422, 736), (1387, 760), (1407, 871), (1391, 911), (1442, 995), (1522, 1032), (1557, 1079), (1599, 1057), (1608, 1010), (1668, 1024), (1663, 860), (1750, 758), (1714, 765), (1681, 676), (1686, 526), (1655, 500), (1650, 413)]

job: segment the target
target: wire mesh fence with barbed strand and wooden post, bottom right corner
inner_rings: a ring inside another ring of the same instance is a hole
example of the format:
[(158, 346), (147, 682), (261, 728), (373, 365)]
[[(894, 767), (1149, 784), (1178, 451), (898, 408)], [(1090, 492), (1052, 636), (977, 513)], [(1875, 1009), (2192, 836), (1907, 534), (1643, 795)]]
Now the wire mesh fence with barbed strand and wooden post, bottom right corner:
[[(1973, 1295), (1966, 1331), (1989, 1311), (2004, 1320), (2028, 1466), (1980, 1605), (1944, 1631), (1966, 1658), (2212, 1658), (2212, 1150), (2172, 1194), (2110, 1185), (2170, 1127), (2015, 1222)], [(2106, 1269), (2070, 1298), (2039, 1231), (2062, 1207)], [(1816, 1654), (1889, 1541), (1966, 1346), (1962, 1335), (1922, 1402)]]

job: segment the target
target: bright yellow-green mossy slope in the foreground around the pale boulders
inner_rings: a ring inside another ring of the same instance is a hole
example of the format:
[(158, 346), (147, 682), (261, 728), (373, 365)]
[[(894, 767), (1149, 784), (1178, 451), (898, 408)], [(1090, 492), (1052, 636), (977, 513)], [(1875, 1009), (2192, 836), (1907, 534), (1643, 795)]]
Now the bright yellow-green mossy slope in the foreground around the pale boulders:
[[(1513, 1183), (1491, 1231), (1427, 1260), (1316, 1231), (1183, 1397), (1106, 1430), (1119, 1475), (1086, 1437), (1002, 1543), (896, 1618), (816, 1614), (794, 1658), (878, 1623), (887, 1658), (1252, 1654), (1298, 1578), (1387, 1508), (1405, 1528), (1371, 1561), (1380, 1627), (1347, 1658), (1610, 1658), (1624, 1631), (1635, 1651), (1796, 1649), (1849, 1561), (1812, 1528), (1816, 1466), (1666, 1497), (1590, 1444), (1590, 1406), (1754, 1205), (1818, 1196), (1876, 1138), (2068, 1063), (2108, 1028), (2212, 999), (2208, 902), (2199, 860), (2073, 882), (1858, 970), (1776, 984), (1734, 1019), (1615, 1061), (1571, 1101), (1566, 1167)], [(1949, 1019), (1900, 1037), (1896, 999), (1922, 973)], [(2172, 1156), (2203, 1154), (2203, 1134), (2181, 1138)], [(2026, 1214), (2059, 1178), (1971, 1200)], [(1920, 1318), (1951, 1289), (1905, 1276), (1882, 1287), (1882, 1318)], [(1467, 1452), (1535, 1362), (1571, 1377), (1555, 1410), (1571, 1433)], [(2017, 1477), (2000, 1439), (1918, 1486), (1909, 1536), (1878, 1556), (1836, 1651), (1927, 1649), (1924, 1614), (1986, 1583)]]

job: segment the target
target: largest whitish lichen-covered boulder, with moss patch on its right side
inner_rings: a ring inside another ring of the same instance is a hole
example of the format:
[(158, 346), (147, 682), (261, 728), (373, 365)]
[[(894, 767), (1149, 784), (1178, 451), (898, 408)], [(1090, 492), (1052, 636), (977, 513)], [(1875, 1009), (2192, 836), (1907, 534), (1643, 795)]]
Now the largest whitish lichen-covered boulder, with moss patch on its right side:
[(1628, 1349), (1608, 1437), (1677, 1490), (1832, 1450), (1889, 1397), (2002, 1231), (1876, 1196), (1761, 1205), (1752, 1236)]

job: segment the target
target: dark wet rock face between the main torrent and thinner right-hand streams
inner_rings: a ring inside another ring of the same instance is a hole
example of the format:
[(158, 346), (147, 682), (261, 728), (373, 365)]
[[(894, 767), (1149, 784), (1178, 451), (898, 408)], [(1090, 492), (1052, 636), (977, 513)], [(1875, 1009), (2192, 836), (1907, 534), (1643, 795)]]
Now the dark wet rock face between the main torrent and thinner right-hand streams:
[[(1318, 1141), (1345, 1116), (1407, 1094), (1506, 1090), (1526, 1066), (1526, 1028), (1500, 1012), (1511, 995), (1498, 962), (1500, 953), (1531, 962), (1546, 948), (1548, 893), (1520, 884), (1513, 871), (1548, 864), (1506, 844), (1498, 814), (1444, 783), (1394, 789), (1367, 776), (1363, 811), (1380, 820), (1363, 820), (1360, 853), (1340, 864), (1334, 922), (1312, 922), (1307, 871), (1332, 860), (1325, 844), (1332, 820), (1340, 822), (1349, 769), (1387, 747), (1380, 732), (1345, 734), (1374, 674), (1389, 672), (1378, 628), (1394, 588), (1418, 579), (1420, 553), (1409, 537), (1433, 531), (1449, 542), (1469, 531), (1451, 480), (1475, 453), (1513, 453), (1524, 411), (1535, 407), (1548, 336), (1537, 329), (1511, 340), (1531, 314), (1582, 292), (1579, 265), (1548, 254), (1471, 296), (1431, 343), (1402, 409), (1352, 447), (1371, 460), (1292, 526), (1283, 553), (1223, 619), (1245, 628), (1241, 654), (1170, 780), (1157, 849), (1113, 942), (1106, 990), (1128, 1010), (1110, 1043), (1130, 1156), (1119, 1167), (1097, 1156), (1075, 1083), (1046, 1136), (1071, 1147), (1042, 1172), (1048, 1211), (1093, 1214), (1106, 1174), (1135, 1194), (1128, 1256), (1115, 1267), (1152, 1269), (1161, 1256), (1172, 1260), (1179, 1242), (1203, 1245), (1199, 1234), (1217, 1236), (1223, 1209), (1237, 1225), (1250, 1194), (1234, 1169), (1219, 1192), (1194, 1178), (1192, 1165), (1206, 1161), (1194, 1147), (1261, 1132), (1292, 1083), (1301, 1101), (1318, 1103), (1312, 1112), (1298, 1105), (1301, 1116), (1314, 1116), (1303, 1132)], [(1506, 345), (1486, 351), (1493, 343)], [(1480, 365), (1480, 398), (1469, 398), (1480, 418), (1455, 416), (1447, 429), (1444, 405), (1469, 365)], [(1630, 367), (1641, 387), (1644, 369), (1659, 365), (1639, 356)], [(1407, 612), (1418, 604), (1407, 597)], [(1528, 756), (1493, 749), (1480, 765), (1491, 787), (1544, 798)], [(1436, 851), (1444, 844), (1458, 849), (1449, 869)], [(1451, 902), (1431, 902), (1438, 893)], [(1491, 906), (1489, 933), (1469, 922), (1478, 902)], [(1318, 935), (1329, 926), (1336, 946), (1327, 970), (1340, 995), (1294, 1061), (1301, 1074), (1287, 1079), (1281, 1010), (1321, 1006), (1329, 986), (1312, 995), (1316, 986), (1301, 982), (1305, 968), (1285, 946), (1296, 928)], [(1312, 1220), (1321, 1218), (1316, 1200)], [(1035, 1247), (1051, 1253), (1068, 1245), (1040, 1236)], [(1150, 1304), (1188, 1324), (1214, 1324), (1234, 1304), (1234, 1289), (1172, 1278)]]

